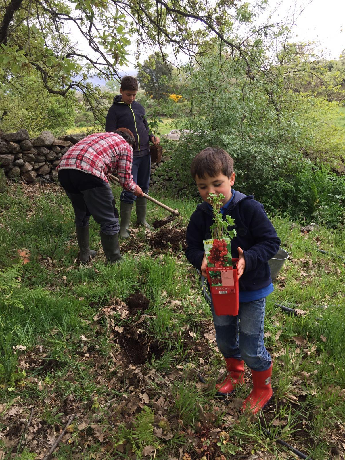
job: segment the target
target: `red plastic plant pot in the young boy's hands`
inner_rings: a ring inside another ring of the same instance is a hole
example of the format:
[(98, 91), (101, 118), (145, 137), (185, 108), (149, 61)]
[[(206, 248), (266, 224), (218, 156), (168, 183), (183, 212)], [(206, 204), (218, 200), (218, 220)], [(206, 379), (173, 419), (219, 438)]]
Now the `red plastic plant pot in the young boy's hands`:
[(206, 267), (213, 308), (217, 316), (238, 315), (237, 262), (238, 259), (232, 259), (232, 267)]

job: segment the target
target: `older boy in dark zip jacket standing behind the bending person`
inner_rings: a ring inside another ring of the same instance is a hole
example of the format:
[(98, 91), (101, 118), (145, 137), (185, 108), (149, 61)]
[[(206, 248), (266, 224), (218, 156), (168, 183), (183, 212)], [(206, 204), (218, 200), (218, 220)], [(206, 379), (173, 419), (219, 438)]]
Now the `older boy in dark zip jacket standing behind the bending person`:
[[(132, 176), (134, 182), (147, 194), (151, 173), (149, 140), (158, 145), (159, 137), (155, 137), (150, 132), (145, 109), (135, 100), (137, 92), (137, 79), (131, 76), (123, 77), (120, 87), (121, 94), (115, 96), (113, 105), (108, 110), (105, 131), (115, 131), (118, 127), (126, 127), (132, 131), (136, 142), (136, 147), (133, 149)], [(136, 197), (131, 192), (124, 190), (121, 193), (120, 205), (119, 235), (121, 238), (128, 238), (129, 236), (128, 227), (134, 201), (138, 224), (150, 228), (146, 222), (147, 199)]]

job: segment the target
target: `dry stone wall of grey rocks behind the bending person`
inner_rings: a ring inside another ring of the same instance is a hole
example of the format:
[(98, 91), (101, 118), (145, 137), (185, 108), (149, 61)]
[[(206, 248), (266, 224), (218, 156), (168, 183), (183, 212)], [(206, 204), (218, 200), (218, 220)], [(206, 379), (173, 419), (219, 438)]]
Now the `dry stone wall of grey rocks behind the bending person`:
[[(43, 131), (37, 138), (30, 138), (26, 129), (5, 134), (0, 131), (0, 167), (9, 179), (27, 183), (46, 180), (57, 181), (55, 168), (67, 150), (85, 134), (70, 134), (55, 138), (50, 131)], [(183, 189), (178, 173), (169, 168), (171, 157), (164, 155), (161, 163), (152, 163), (150, 191), (173, 187)], [(164, 167), (162, 167), (164, 165)]]

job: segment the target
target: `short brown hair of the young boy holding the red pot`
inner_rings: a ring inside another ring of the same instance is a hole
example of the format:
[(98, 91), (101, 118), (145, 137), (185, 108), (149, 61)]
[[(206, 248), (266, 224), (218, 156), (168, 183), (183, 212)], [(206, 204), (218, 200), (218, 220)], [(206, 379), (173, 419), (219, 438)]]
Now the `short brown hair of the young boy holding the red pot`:
[(206, 175), (210, 177), (218, 176), (222, 173), (230, 178), (234, 172), (234, 160), (225, 150), (220, 147), (207, 147), (201, 150), (190, 165), (190, 173), (192, 178), (196, 180), (196, 176), (205, 179)]

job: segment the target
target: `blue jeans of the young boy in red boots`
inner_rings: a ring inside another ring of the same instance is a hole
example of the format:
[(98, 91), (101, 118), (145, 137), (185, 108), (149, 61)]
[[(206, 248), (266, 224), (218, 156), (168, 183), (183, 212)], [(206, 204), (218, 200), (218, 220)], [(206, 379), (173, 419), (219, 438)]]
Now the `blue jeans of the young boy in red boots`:
[(265, 371), (271, 365), (264, 345), (265, 303), (265, 297), (242, 302), (237, 316), (217, 316), (211, 303), (219, 351), (224, 358), (243, 359), (255, 371)]

